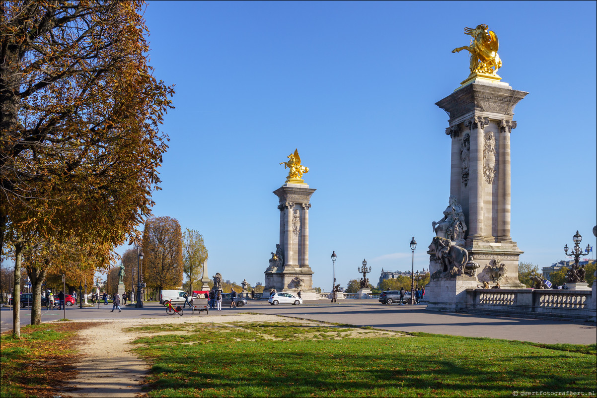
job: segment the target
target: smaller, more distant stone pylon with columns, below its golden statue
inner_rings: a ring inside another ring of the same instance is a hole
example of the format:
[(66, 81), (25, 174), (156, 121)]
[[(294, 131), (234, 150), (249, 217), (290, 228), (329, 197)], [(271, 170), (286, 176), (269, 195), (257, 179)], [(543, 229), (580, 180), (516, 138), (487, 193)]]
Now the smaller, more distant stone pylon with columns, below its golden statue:
[(315, 189), (307, 184), (286, 183), (273, 193), (280, 212), (279, 247), (265, 271), (264, 298), (270, 289), (301, 292), (303, 300), (314, 300), (313, 271), (309, 266), (309, 200)]

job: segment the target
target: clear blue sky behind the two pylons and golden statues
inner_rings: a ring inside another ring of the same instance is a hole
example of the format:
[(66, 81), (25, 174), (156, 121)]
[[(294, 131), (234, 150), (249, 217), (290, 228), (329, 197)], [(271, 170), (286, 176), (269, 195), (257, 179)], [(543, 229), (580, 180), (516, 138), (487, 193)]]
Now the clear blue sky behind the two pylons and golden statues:
[[(364, 258), (427, 268), (450, 195), (447, 114), (469, 74), (465, 26), (497, 33), (502, 81), (530, 94), (512, 131), (512, 238), (521, 261), (595, 245), (596, 2), (177, 2), (145, 13), (154, 75), (176, 84), (156, 216), (205, 238), (210, 276), (264, 281), (278, 198), (298, 148), (311, 188), (313, 285)], [(596, 249), (597, 249), (597, 245)], [(119, 253), (127, 247), (119, 248)]]

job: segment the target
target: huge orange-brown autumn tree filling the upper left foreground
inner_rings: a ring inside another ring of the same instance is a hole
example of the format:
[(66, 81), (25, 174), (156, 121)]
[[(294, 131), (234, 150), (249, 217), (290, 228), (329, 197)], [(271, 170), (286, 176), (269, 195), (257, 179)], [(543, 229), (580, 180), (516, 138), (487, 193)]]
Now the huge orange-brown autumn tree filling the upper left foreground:
[(30, 235), (108, 255), (150, 216), (173, 89), (147, 63), (142, 7), (2, 2), (0, 246), (16, 291)]

